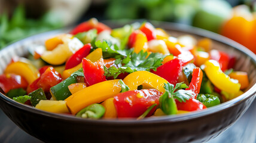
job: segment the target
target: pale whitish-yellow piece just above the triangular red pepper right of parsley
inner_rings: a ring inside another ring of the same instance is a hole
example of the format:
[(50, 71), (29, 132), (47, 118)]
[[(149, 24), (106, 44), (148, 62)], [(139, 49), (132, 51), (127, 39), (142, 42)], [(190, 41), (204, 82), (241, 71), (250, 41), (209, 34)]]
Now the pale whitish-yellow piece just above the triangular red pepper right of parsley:
[(163, 40), (151, 40), (148, 42), (148, 51), (151, 52), (160, 52), (161, 54), (170, 54), (169, 49), (166, 46), (166, 43)]

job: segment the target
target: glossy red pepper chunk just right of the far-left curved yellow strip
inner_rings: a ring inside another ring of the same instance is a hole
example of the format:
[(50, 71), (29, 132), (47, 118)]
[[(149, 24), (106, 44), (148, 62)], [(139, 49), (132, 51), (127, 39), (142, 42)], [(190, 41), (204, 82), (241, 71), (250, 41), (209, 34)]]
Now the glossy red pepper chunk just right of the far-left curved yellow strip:
[(48, 67), (47, 70), (42, 73), (39, 77), (37, 85), (42, 88), (45, 92), (48, 92), (51, 87), (62, 82), (62, 76), (53, 67)]

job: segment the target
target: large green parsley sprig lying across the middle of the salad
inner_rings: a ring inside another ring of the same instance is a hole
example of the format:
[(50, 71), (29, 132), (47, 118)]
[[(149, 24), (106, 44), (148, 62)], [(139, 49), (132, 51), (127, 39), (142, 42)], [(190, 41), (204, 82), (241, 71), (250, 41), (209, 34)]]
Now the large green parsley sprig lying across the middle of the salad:
[[(165, 57), (159, 53), (151, 53), (148, 57), (147, 56), (148, 52), (141, 51), (138, 54), (133, 52), (121, 61), (124, 66), (121, 66), (118, 69), (116, 67), (109, 67), (109, 69), (105, 68), (105, 76), (113, 76), (115, 79), (120, 73), (124, 72), (133, 73), (140, 70), (150, 71), (151, 69), (156, 71), (157, 67), (162, 65), (161, 62)], [(118, 59), (116, 64), (120, 64), (120, 59)]]

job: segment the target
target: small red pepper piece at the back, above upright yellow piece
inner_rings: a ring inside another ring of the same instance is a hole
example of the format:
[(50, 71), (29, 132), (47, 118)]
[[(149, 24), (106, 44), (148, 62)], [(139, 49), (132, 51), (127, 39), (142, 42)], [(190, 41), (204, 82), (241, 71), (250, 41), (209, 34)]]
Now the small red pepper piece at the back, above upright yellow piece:
[(139, 28), (145, 35), (147, 36), (148, 41), (151, 41), (153, 39), (157, 38), (157, 33), (154, 28), (154, 26), (150, 23), (144, 23), (142, 26)]

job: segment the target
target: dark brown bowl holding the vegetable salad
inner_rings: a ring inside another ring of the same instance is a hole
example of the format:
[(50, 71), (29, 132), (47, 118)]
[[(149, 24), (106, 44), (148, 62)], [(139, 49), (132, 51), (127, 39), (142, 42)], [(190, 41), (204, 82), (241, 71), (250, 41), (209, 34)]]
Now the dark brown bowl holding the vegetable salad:
[[(112, 27), (121, 22), (106, 21)], [(163, 116), (144, 120), (90, 120), (64, 114), (36, 110), (0, 94), (0, 107), (21, 129), (45, 142), (205, 142), (220, 135), (230, 127), (251, 105), (256, 92), (256, 56), (236, 42), (215, 33), (173, 23), (157, 23), (178, 36), (190, 34), (196, 38), (207, 37), (214, 41), (214, 48), (237, 57), (235, 70), (249, 74), (250, 86), (245, 94), (231, 101), (203, 111), (177, 116)], [(28, 54), (28, 47), (42, 44), (49, 36), (67, 30), (42, 33), (13, 43), (0, 51), (0, 74), (11, 57)]]

